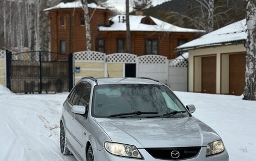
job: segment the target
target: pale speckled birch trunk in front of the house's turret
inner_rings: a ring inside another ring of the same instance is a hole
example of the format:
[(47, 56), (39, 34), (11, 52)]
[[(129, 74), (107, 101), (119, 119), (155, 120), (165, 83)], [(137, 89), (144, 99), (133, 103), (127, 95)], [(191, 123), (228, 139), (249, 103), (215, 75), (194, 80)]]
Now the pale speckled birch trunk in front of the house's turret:
[(86, 50), (92, 50), (92, 42), (91, 42), (91, 35), (90, 35), (90, 16), (89, 16), (89, 8), (88, 8), (88, 1), (81, 0), (84, 10), (84, 21), (85, 21), (85, 35), (86, 35)]

